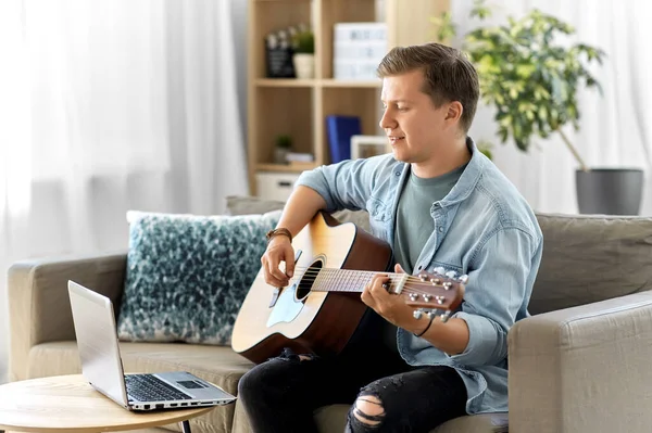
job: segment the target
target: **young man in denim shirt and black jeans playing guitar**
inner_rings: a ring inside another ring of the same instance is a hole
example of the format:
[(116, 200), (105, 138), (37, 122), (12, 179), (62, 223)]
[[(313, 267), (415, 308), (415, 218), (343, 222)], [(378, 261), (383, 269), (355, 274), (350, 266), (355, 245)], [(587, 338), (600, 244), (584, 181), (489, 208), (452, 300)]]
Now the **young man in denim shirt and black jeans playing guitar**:
[[(428, 432), (465, 413), (507, 410), (507, 331), (527, 316), (542, 235), (517, 190), (467, 138), (478, 77), (456, 50), (396, 48), (378, 67), (380, 127), (392, 153), (304, 173), (262, 263), (288, 285), (296, 235), (321, 209), (367, 209), (396, 271), (443, 267), (465, 273), (464, 302), (448, 322), (414, 318), (378, 275), (362, 301), (398, 328), (391, 355), (294, 355), (263, 362), (239, 385), (255, 432), (315, 432), (313, 410), (352, 404), (347, 431)], [(286, 273), (279, 263), (286, 262)]]

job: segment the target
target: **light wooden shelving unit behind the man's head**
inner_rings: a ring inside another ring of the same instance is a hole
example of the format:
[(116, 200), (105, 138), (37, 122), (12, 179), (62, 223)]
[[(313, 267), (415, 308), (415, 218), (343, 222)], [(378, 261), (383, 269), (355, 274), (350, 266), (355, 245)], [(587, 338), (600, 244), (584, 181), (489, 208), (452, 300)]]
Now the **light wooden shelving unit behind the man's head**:
[[(325, 117), (356, 115), (362, 133), (377, 135), (380, 80), (333, 78), (334, 24), (385, 21), (388, 47), (434, 40), (429, 22), (450, 9), (450, 0), (249, 0), (248, 154), (251, 193), (256, 174), (292, 177), (305, 169), (273, 164), (274, 140), (290, 135), (293, 151), (310, 152), (312, 166), (328, 164)], [(264, 38), (269, 31), (299, 23), (315, 34), (315, 78), (266, 78)], [(309, 167), (312, 167), (309, 166)]]

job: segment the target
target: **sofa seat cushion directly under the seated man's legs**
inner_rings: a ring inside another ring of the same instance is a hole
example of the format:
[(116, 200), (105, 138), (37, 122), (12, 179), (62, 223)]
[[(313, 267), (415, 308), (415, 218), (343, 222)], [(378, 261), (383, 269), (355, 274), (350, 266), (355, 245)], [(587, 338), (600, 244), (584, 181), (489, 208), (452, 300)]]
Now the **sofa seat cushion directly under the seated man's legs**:
[[(324, 406), (315, 411), (319, 433), (339, 433), (347, 424), (348, 405)], [(482, 413), (452, 419), (430, 433), (506, 433), (507, 413)]]

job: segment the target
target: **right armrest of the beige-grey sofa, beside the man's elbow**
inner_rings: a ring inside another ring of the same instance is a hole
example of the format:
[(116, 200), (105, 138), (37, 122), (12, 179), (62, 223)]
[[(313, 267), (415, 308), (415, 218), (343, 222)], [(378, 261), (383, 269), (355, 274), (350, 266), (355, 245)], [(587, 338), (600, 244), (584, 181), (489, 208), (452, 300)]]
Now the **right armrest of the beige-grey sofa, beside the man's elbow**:
[(510, 432), (652, 425), (652, 292), (521, 320), (509, 356)]

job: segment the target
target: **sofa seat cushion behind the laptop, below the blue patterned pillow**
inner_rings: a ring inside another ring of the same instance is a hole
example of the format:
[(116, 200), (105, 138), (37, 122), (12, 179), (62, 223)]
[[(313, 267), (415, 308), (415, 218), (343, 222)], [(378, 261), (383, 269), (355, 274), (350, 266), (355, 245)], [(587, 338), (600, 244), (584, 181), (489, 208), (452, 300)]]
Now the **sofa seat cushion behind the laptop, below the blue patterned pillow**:
[[(238, 381), (253, 365), (230, 347), (184, 343), (120, 344), (124, 370), (131, 372), (189, 371), (224, 391), (237, 395)], [(82, 372), (77, 345), (73, 341), (43, 343), (29, 353), (29, 378)], [(190, 420), (193, 433), (224, 433), (231, 430), (235, 404), (220, 406)], [(178, 426), (166, 426), (178, 431)]]

